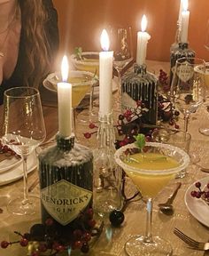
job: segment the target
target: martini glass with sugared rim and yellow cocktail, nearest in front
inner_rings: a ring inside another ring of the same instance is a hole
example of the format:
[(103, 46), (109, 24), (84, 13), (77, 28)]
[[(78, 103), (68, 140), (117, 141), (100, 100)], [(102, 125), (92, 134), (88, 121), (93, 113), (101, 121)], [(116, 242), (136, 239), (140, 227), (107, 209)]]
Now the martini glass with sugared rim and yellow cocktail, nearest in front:
[[(147, 142), (146, 152), (136, 153), (135, 143), (119, 148), (115, 153), (116, 163), (128, 174), (147, 202), (145, 235), (132, 236), (125, 244), (129, 256), (171, 255), (172, 247), (159, 236), (151, 235), (152, 200), (178, 172), (190, 163), (190, 157), (181, 148)], [(132, 153), (133, 155), (132, 155)]]

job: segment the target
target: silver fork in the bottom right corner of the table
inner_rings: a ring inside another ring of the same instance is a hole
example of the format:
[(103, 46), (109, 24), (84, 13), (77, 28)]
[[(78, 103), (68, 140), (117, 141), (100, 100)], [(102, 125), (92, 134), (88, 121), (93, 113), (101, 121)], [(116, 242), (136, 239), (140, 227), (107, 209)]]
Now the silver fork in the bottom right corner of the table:
[(196, 249), (199, 251), (208, 251), (209, 250), (209, 242), (203, 243), (203, 242), (198, 242), (190, 236), (186, 236), (182, 231), (180, 231), (178, 228), (174, 228), (174, 235), (178, 236), (180, 239), (182, 239), (183, 242), (188, 244), (191, 249)]

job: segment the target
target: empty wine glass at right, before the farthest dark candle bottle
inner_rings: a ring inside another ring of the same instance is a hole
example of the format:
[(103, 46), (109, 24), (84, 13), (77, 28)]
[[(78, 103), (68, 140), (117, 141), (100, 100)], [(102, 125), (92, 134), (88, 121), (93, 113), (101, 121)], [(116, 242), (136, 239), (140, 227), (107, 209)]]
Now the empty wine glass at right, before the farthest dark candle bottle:
[(204, 72), (205, 60), (187, 57), (176, 60), (171, 98), (184, 115), (184, 132), (188, 132), (190, 114), (195, 113), (205, 100)]

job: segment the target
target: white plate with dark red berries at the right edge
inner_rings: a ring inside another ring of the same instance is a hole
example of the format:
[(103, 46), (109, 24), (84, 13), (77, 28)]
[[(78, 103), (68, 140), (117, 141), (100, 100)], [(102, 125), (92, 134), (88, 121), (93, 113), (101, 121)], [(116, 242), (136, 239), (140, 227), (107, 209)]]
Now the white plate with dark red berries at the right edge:
[[(201, 188), (204, 188), (205, 185), (209, 182), (209, 176), (203, 178), (202, 180), (197, 180), (201, 182)], [(197, 182), (196, 181), (196, 182)], [(195, 197), (190, 196), (190, 192), (192, 190), (197, 190), (194, 182), (190, 188), (187, 189), (186, 194), (184, 196), (184, 202), (190, 212), (190, 214), (195, 217), (199, 222), (204, 224), (209, 228), (209, 205), (207, 205), (202, 199), (197, 199)]]

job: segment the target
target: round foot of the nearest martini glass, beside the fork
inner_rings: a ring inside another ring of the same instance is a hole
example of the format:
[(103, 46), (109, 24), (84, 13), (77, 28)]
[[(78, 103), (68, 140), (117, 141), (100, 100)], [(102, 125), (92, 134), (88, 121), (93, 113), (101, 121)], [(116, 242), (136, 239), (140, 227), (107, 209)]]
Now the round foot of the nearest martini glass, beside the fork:
[(144, 236), (132, 236), (125, 244), (125, 251), (129, 256), (162, 256), (172, 255), (171, 244), (159, 236), (152, 237), (153, 242), (144, 242)]

